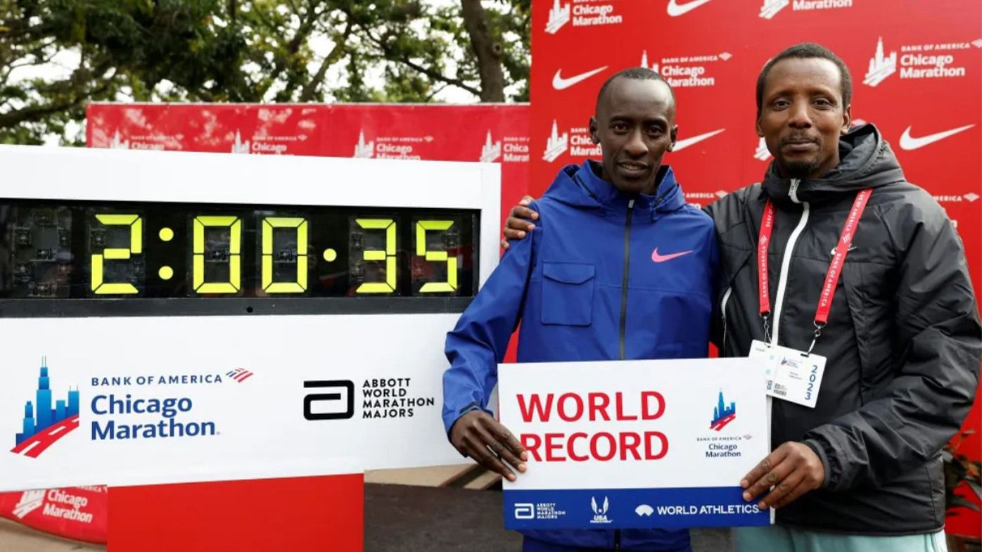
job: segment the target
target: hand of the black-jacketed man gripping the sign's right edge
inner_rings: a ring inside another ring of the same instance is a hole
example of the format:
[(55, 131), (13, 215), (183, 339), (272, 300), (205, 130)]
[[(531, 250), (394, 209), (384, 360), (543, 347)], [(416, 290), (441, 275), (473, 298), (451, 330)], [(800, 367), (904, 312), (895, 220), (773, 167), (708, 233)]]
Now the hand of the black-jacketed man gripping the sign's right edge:
[(815, 451), (804, 443), (789, 441), (769, 454), (739, 482), (743, 500), (750, 501), (774, 487), (757, 504), (762, 510), (791, 504), (804, 493), (825, 482), (825, 466)]

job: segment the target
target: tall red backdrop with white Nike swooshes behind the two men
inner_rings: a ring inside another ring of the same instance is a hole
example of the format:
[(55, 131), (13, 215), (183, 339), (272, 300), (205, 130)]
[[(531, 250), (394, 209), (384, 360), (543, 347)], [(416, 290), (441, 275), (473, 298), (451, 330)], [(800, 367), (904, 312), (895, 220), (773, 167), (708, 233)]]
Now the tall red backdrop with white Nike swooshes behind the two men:
[[(982, 289), (980, 22), (982, 3), (967, 0), (539, 0), (529, 189), (541, 193), (564, 164), (599, 157), (586, 131), (596, 92), (642, 64), (675, 88), (681, 147), (666, 162), (688, 200), (759, 182), (770, 156), (754, 134), (757, 75), (791, 44), (820, 42), (849, 68), (853, 119), (875, 123), (907, 179), (955, 220)], [(980, 417), (976, 400), (965, 426), (978, 428)], [(978, 434), (962, 448), (982, 456)], [(976, 536), (980, 526), (966, 509), (948, 524)]]

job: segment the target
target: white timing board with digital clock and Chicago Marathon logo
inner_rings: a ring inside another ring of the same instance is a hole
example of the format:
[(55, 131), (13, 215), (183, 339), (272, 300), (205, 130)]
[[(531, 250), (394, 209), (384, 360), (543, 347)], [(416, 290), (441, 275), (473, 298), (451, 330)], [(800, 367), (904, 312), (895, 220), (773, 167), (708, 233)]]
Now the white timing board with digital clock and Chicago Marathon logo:
[(0, 164), (0, 490), (461, 463), (443, 343), (496, 264), (498, 167)]

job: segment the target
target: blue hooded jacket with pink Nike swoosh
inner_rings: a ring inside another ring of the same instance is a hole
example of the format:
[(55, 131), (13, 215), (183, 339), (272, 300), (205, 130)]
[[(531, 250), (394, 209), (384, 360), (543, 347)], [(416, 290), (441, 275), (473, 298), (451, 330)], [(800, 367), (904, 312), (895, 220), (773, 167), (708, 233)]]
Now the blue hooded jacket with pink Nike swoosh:
[[(713, 221), (685, 203), (668, 166), (655, 195), (633, 199), (599, 171), (595, 161), (560, 171), (531, 205), (539, 213), (531, 238), (511, 242), (447, 334), (448, 434), (462, 414), (487, 409), (519, 322), (519, 362), (706, 357), (718, 262)], [(688, 547), (686, 530), (525, 534), (581, 547)]]

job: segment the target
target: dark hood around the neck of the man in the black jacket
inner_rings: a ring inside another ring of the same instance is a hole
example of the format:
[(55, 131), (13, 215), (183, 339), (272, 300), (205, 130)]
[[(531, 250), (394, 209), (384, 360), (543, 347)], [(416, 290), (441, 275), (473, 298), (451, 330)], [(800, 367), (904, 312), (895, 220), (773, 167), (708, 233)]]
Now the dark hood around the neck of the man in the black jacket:
[[(820, 179), (804, 179), (795, 191), (797, 201), (822, 201), (903, 182), (903, 171), (880, 131), (871, 124), (855, 127), (839, 139), (839, 165)], [(776, 202), (791, 201), (791, 179), (778, 174), (772, 161), (762, 183), (764, 191)]]

